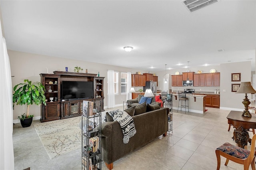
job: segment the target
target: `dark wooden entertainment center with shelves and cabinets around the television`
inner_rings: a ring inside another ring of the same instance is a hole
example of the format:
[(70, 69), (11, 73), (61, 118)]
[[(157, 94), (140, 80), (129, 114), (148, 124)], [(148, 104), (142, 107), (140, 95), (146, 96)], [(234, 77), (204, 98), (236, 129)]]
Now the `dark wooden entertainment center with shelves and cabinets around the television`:
[[(82, 115), (83, 100), (101, 103), (104, 111), (104, 78), (96, 77), (97, 74), (54, 71), (54, 74), (41, 73), (41, 83), (44, 85), (46, 105), (41, 106), (41, 122), (66, 119)], [(92, 99), (61, 99), (62, 81), (93, 81)], [(50, 90), (50, 91), (49, 91)], [(52, 91), (51, 91), (52, 90)], [(53, 100), (50, 100), (53, 97)]]

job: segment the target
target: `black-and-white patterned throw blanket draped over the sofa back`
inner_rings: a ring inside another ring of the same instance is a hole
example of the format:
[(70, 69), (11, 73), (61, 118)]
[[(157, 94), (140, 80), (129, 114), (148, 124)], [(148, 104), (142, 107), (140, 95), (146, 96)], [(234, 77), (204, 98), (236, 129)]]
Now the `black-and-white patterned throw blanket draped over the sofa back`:
[(120, 111), (117, 109), (116, 111), (109, 111), (108, 112), (110, 116), (113, 117), (114, 121), (118, 121), (120, 124), (120, 127), (122, 129), (122, 132), (124, 134), (124, 144), (127, 144), (129, 142), (129, 139), (136, 134), (136, 129), (134, 126), (134, 121), (128, 113), (125, 111)]

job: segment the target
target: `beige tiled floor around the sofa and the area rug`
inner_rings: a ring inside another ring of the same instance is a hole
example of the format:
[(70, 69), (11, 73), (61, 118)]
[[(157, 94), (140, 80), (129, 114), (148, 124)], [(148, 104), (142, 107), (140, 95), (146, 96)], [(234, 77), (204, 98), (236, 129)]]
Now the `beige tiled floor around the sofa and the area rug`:
[[(114, 110), (117, 108), (109, 109)], [(122, 109), (122, 107), (118, 107)], [(216, 170), (215, 149), (232, 140), (233, 128), (228, 132), (226, 116), (229, 111), (207, 108), (204, 114), (174, 112), (173, 132), (160, 136), (146, 146), (114, 162), (113, 170)], [(14, 125), (13, 144), (16, 170), (30, 167), (31, 170), (79, 170), (81, 149), (50, 159), (31, 127)], [(252, 133), (249, 132), (250, 136)], [(250, 149), (250, 145), (248, 145)], [(222, 170), (241, 170), (243, 166), (230, 161)], [(102, 169), (106, 169), (104, 162)]]

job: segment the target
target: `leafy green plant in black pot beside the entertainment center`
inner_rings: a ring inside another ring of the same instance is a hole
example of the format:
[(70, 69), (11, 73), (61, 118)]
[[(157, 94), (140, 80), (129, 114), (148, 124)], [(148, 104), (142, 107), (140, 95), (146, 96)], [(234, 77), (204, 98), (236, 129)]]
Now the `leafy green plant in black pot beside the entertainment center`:
[(24, 83), (20, 83), (13, 88), (14, 94), (12, 95), (13, 108), (16, 105), (27, 105), (27, 113), (18, 117), (22, 127), (30, 127), (33, 116), (29, 115), (30, 105), (33, 103), (40, 106), (42, 103), (46, 105), (46, 99), (44, 95), (45, 88), (40, 82), (31, 83), (28, 79), (24, 80)]

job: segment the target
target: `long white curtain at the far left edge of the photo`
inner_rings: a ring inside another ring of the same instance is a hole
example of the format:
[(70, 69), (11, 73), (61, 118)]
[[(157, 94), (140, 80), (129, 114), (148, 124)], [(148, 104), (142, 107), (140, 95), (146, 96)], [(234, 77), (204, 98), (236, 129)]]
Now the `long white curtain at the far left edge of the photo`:
[(2, 36), (0, 24), (0, 169), (14, 169), (14, 152), (12, 145), (12, 80), (6, 42)]

